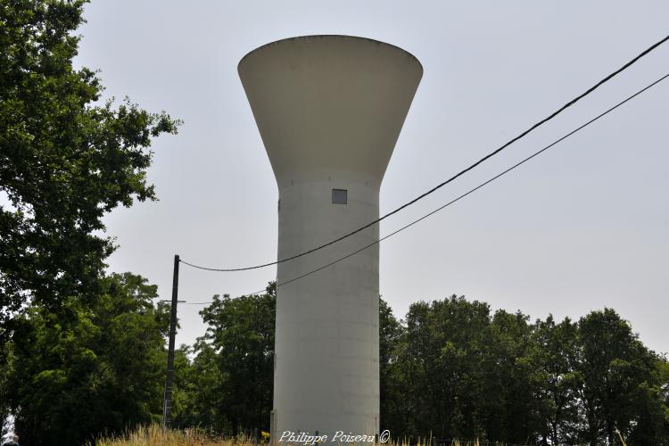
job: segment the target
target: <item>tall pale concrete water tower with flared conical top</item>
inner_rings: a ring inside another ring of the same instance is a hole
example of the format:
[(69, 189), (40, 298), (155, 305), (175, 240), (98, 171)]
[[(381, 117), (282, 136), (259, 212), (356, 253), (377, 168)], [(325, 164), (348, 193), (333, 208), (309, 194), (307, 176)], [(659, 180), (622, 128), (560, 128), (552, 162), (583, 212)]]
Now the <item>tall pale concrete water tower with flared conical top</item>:
[[(294, 37), (260, 46), (239, 76), (277, 178), (278, 258), (379, 217), (379, 187), (423, 74), (376, 40)], [(378, 225), (278, 265), (278, 283), (378, 240)], [(277, 289), (276, 442), (285, 431), (379, 428), (378, 245)]]

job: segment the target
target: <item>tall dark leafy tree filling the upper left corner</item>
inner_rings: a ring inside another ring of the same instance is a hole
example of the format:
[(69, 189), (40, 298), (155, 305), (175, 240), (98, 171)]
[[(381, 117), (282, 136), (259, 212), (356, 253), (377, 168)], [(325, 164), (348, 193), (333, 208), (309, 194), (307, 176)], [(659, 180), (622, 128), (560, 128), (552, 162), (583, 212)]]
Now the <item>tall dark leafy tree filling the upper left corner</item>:
[(30, 304), (58, 310), (99, 295), (99, 235), (119, 204), (155, 198), (147, 148), (178, 120), (98, 103), (95, 72), (75, 69), (84, 0), (0, 3), (0, 343)]

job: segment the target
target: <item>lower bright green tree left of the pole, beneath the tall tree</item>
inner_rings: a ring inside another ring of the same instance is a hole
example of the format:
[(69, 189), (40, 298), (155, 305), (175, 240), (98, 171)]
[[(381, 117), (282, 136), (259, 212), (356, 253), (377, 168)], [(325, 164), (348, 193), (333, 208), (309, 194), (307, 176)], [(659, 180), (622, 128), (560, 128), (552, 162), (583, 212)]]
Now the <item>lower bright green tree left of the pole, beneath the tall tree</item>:
[(130, 273), (103, 279), (87, 306), (63, 316), (32, 307), (11, 343), (7, 398), (27, 444), (82, 444), (160, 421), (169, 308)]

